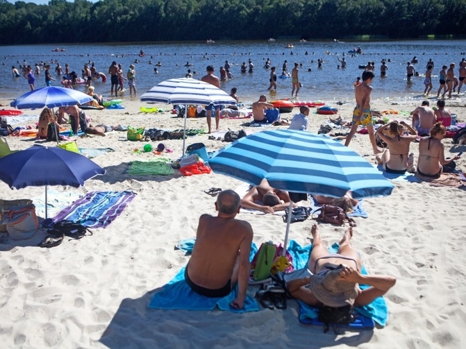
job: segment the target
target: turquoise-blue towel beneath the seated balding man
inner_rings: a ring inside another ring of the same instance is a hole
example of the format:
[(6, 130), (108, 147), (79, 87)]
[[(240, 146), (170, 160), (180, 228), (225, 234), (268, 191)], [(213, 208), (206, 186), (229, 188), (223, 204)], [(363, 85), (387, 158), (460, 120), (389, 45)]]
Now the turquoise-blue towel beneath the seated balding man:
[[(192, 252), (194, 246), (194, 239), (186, 239), (180, 241), (177, 247), (183, 250), (187, 255)], [(251, 245), (251, 253), (249, 260), (251, 261), (253, 255), (257, 251), (256, 244)], [(168, 283), (165, 284), (160, 291), (152, 296), (149, 303), (150, 309), (179, 309), (179, 310), (213, 310), (218, 307), (220, 310), (228, 310), (233, 313), (245, 312), (258, 312), (259, 305), (253, 297), (247, 295), (244, 301), (244, 309), (234, 309), (230, 307), (230, 303), (235, 300), (238, 295), (238, 285), (228, 294), (228, 296), (221, 298), (208, 298), (200, 296), (192, 291), (192, 289), (185, 282), (185, 267), (183, 267), (176, 276)]]

